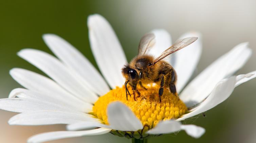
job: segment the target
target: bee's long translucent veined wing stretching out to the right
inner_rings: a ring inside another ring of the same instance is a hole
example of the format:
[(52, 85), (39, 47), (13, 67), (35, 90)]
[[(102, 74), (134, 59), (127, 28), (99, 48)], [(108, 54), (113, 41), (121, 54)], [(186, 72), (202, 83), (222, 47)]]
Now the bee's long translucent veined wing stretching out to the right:
[(180, 40), (176, 41), (175, 44), (173, 44), (170, 48), (166, 49), (159, 57), (154, 59), (153, 64), (159, 62), (160, 60), (169, 56), (170, 54), (172, 54), (172, 53), (190, 45), (191, 43), (193, 43), (197, 39), (198, 39), (198, 37), (187, 37), (187, 38), (180, 39)]

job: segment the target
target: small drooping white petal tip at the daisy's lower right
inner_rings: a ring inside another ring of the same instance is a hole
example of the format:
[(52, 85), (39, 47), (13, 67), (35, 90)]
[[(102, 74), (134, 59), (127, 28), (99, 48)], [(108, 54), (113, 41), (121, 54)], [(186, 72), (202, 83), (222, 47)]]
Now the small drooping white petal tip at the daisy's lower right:
[(194, 138), (200, 138), (205, 133), (204, 128), (196, 125), (181, 125), (181, 129)]

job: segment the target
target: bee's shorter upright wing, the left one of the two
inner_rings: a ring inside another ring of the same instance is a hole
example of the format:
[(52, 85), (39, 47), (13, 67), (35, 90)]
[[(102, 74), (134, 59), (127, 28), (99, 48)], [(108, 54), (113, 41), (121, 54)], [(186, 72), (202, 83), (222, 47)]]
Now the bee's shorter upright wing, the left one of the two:
[(140, 41), (139, 44), (139, 55), (146, 54), (150, 48), (153, 47), (153, 45), (156, 42), (155, 35), (153, 33), (145, 34)]

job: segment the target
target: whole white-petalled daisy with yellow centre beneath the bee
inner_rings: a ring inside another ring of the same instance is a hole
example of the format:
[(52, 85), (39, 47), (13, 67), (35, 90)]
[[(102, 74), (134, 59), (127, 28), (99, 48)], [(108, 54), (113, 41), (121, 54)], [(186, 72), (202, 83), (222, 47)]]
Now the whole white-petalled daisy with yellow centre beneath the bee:
[[(145, 85), (147, 90), (138, 87), (141, 96), (136, 101), (129, 96), (127, 100), (121, 74), (127, 60), (112, 27), (102, 16), (91, 15), (88, 28), (91, 49), (103, 76), (71, 44), (54, 34), (43, 35), (43, 40), (57, 58), (35, 49), (18, 52), (51, 79), (22, 68), (10, 71), (24, 88), (16, 88), (9, 98), (0, 99), (0, 109), (20, 113), (8, 123), (68, 124), (69, 130), (38, 134), (28, 142), (106, 133), (143, 140), (181, 130), (199, 138), (204, 128), (180, 121), (212, 109), (227, 99), (235, 87), (255, 78), (256, 71), (232, 76), (251, 56), (248, 43), (241, 43), (187, 84), (202, 51), (201, 35), (188, 32), (180, 38), (194, 36), (198, 40), (168, 60), (178, 75), (179, 96), (165, 89), (160, 103), (159, 85), (150, 84)], [(165, 30), (151, 33), (156, 37), (151, 54), (160, 55), (171, 46), (171, 37)]]

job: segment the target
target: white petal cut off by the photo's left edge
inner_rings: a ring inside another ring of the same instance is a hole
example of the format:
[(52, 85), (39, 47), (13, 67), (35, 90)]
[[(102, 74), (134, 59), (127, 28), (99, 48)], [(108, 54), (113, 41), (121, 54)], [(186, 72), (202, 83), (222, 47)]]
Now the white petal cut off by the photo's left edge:
[(69, 109), (65, 105), (56, 105), (46, 101), (39, 101), (30, 98), (2, 98), (0, 99), (0, 109), (12, 112), (31, 112), (38, 110), (55, 110), (66, 112), (78, 112)]

